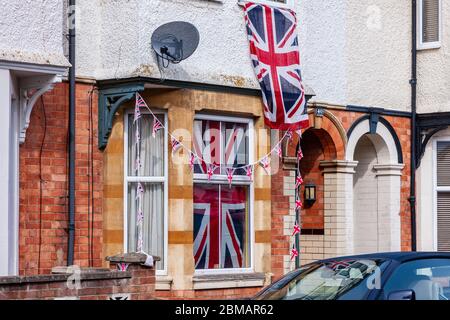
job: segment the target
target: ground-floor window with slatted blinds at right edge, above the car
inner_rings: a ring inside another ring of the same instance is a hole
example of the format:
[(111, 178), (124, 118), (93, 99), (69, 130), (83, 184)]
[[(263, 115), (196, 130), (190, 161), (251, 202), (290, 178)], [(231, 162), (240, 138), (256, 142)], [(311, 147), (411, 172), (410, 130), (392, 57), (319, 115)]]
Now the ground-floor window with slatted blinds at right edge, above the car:
[(450, 251), (450, 141), (436, 147), (437, 250)]

